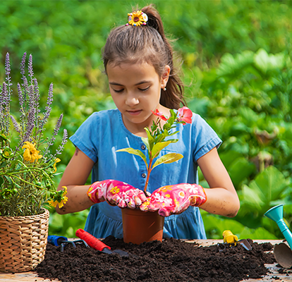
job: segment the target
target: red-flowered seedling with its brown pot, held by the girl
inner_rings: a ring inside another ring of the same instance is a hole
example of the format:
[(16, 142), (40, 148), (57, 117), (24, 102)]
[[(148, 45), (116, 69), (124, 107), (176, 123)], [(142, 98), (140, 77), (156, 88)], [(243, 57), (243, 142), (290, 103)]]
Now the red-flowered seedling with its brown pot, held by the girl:
[[(169, 153), (162, 157), (159, 157), (159, 152), (162, 151), (169, 144), (178, 142), (178, 139), (167, 139), (178, 133), (173, 131), (177, 123), (192, 122), (193, 113), (186, 106), (183, 106), (178, 111), (170, 110), (171, 116), (166, 117), (158, 110), (152, 113), (157, 116), (157, 121), (153, 121), (151, 128), (146, 127), (147, 138), (142, 137), (147, 147), (147, 157), (138, 149), (131, 147), (118, 149), (116, 152), (128, 152), (129, 154), (135, 154), (143, 159), (147, 167), (147, 179), (144, 187), (144, 192), (147, 195), (147, 185), (150, 179), (150, 173), (152, 169), (160, 164), (171, 164), (174, 161), (178, 161), (183, 158), (182, 154)], [(161, 124), (164, 121), (164, 125)], [(159, 157), (157, 159), (157, 157)], [(156, 160), (155, 160), (156, 159)], [(123, 219), (123, 240), (125, 243), (140, 244), (145, 241), (160, 240), (162, 241), (164, 217), (159, 216), (158, 212), (142, 212), (140, 209), (122, 209)]]

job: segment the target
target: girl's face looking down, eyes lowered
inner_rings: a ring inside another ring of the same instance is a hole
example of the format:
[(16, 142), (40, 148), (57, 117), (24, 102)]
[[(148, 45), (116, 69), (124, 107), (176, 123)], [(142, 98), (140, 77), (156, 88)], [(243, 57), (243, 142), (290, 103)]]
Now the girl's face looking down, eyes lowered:
[(159, 104), (160, 92), (169, 79), (169, 66), (160, 77), (148, 63), (121, 63), (107, 65), (109, 90), (123, 116), (123, 123), (131, 133), (145, 136), (145, 126), (151, 126), (158, 109), (169, 116), (169, 109)]

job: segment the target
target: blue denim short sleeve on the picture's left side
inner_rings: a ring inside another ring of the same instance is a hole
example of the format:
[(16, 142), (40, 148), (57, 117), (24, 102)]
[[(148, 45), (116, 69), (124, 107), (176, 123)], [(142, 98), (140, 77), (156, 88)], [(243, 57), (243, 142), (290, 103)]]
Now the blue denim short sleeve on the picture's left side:
[(75, 147), (78, 147), (87, 157), (90, 157), (92, 161), (97, 162), (98, 158), (98, 138), (95, 137), (97, 134), (97, 125), (99, 124), (99, 117), (97, 113), (92, 114), (87, 118), (80, 128), (76, 130), (75, 134), (69, 139)]

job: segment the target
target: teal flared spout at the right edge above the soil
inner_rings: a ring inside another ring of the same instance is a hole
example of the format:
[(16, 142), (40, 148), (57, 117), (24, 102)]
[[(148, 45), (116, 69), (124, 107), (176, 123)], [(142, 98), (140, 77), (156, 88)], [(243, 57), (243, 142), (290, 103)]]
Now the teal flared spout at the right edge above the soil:
[(269, 209), (264, 214), (264, 216), (267, 216), (269, 219), (272, 219), (273, 221), (276, 222), (276, 224), (280, 228), (281, 233), (283, 233), (289, 247), (292, 250), (292, 233), (283, 220), (283, 204), (279, 204), (278, 206), (272, 207), (272, 209)]

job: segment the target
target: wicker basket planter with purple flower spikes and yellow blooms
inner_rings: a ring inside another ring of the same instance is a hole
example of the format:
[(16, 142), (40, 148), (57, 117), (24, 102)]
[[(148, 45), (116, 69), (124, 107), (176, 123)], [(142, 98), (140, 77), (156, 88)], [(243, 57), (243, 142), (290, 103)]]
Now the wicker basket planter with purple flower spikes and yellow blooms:
[[(22, 272), (33, 269), (44, 259), (49, 226), (46, 205), (62, 207), (68, 200), (66, 187), (56, 192), (54, 174), (60, 161), (67, 132), (51, 154), (63, 114), (50, 138), (44, 137), (53, 101), (53, 85), (49, 86), (47, 106), (41, 113), (39, 86), (32, 69), (32, 55), (26, 53), (20, 63), (22, 82), (17, 84), (20, 109), (11, 114), (13, 89), (9, 54), (6, 54), (6, 81), (0, 86), (0, 271)], [(17, 121), (19, 120), (19, 122)]]

